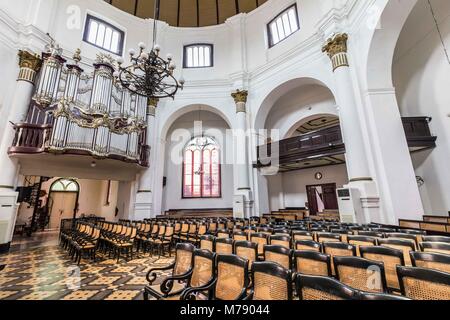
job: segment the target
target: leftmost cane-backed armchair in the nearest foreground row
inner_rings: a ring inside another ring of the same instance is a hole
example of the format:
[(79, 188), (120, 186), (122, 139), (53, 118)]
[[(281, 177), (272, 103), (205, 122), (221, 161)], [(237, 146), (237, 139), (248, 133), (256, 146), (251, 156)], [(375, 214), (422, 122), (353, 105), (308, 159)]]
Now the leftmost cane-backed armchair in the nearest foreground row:
[[(175, 262), (167, 267), (153, 268), (147, 273), (148, 285), (144, 289), (144, 300), (149, 300), (149, 296), (155, 299), (166, 298), (170, 293), (181, 294), (185, 289), (185, 284), (180, 282), (190, 272), (192, 272), (192, 259), (194, 256), (194, 245), (190, 243), (179, 243), (175, 248)], [(157, 272), (172, 270), (170, 278), (162, 281), (161, 285), (155, 285), (158, 278)]]

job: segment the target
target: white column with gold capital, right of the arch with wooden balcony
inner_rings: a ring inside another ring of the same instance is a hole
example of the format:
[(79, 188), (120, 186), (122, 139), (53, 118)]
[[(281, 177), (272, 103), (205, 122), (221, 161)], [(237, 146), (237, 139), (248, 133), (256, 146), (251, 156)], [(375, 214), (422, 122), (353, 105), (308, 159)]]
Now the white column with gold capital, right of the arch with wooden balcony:
[[(345, 159), (349, 184), (355, 197), (360, 199), (356, 206), (356, 220), (359, 223), (382, 222), (379, 196), (370, 169), (363, 139), (358, 104), (355, 98), (350, 64), (347, 56), (347, 34), (337, 34), (329, 39), (322, 51), (331, 59), (336, 83), (336, 101), (339, 106), (339, 120), (345, 142)], [(345, 214), (341, 212), (341, 216)]]

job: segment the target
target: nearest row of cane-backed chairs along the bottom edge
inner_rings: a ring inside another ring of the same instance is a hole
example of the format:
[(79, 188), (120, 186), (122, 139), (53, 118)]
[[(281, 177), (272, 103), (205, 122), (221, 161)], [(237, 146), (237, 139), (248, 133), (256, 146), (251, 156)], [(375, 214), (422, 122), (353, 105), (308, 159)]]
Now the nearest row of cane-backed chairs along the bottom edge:
[[(161, 300), (386, 300), (450, 299), (450, 274), (397, 266), (401, 293), (388, 295), (383, 264), (359, 257), (335, 257), (337, 278), (293, 272), (278, 263), (219, 255), (178, 244), (175, 262), (148, 272), (144, 299)], [(161, 285), (158, 272), (171, 271)], [(368, 272), (371, 271), (371, 272)], [(406, 298), (405, 298), (406, 297)]]

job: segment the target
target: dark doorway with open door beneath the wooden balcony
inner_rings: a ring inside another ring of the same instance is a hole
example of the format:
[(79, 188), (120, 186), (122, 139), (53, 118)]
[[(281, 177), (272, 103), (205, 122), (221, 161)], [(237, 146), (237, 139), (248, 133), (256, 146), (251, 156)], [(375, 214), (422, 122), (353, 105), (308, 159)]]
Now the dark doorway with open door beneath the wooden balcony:
[(338, 210), (336, 183), (306, 186), (310, 215)]

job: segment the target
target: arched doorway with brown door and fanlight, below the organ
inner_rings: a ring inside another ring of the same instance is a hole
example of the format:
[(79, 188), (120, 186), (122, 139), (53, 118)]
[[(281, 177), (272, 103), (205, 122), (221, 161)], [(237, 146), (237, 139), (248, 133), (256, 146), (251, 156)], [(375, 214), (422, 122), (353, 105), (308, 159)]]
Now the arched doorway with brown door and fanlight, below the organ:
[(59, 179), (50, 187), (48, 228), (59, 229), (61, 220), (76, 218), (80, 186), (71, 179)]

